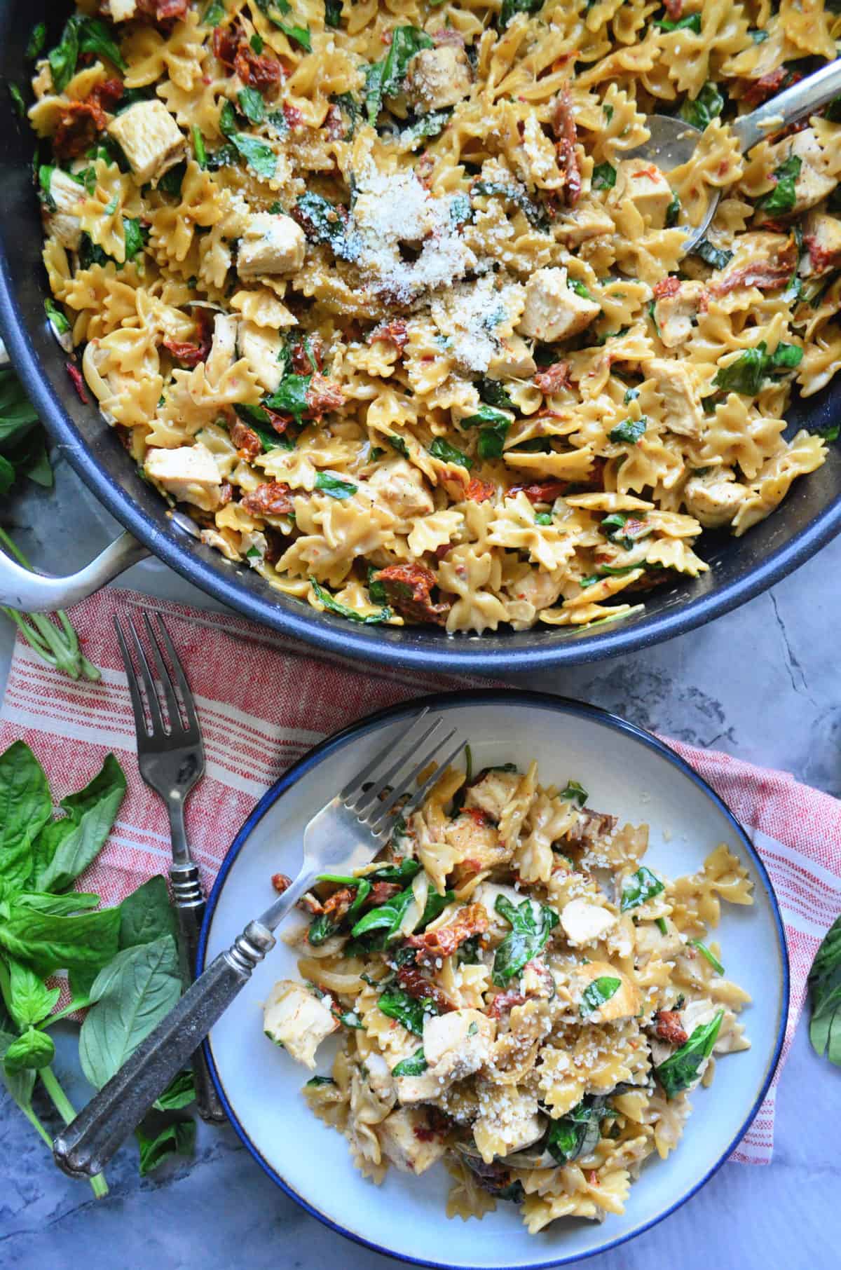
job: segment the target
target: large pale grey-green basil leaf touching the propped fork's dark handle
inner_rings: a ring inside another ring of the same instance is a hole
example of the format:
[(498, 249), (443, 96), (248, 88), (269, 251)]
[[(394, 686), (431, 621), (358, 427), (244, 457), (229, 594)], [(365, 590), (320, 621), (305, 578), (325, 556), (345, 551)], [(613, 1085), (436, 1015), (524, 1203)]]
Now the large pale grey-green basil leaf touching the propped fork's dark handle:
[[(116, 911), (117, 912), (117, 911)], [(173, 1008), (182, 991), (172, 935), (123, 949), (97, 975), (79, 1034), (81, 1068), (97, 1088), (114, 1076)]]

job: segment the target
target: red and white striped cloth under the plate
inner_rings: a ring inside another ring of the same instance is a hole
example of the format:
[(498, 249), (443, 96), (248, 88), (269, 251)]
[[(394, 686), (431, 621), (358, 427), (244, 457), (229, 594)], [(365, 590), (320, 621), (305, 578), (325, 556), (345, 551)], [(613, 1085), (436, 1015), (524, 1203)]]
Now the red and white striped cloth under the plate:
[[(142, 620), (152, 610), (165, 616), (202, 723), (207, 768), (187, 804), (187, 832), (207, 885), (260, 795), (324, 735), (394, 702), (468, 682), (328, 660), (239, 617), (130, 591), (102, 592), (74, 610), (85, 653), (102, 668), (98, 683), (74, 683), (18, 638), (0, 707), (0, 751), (25, 740), (56, 799), (88, 781), (109, 751), (126, 771), (128, 791), (111, 841), (79, 884), (108, 903), (152, 874), (165, 874), (170, 859), (164, 805), (135, 762), (135, 721), (113, 629), (114, 613)], [(791, 1001), (776, 1083), (812, 959), (841, 911), (841, 803), (785, 772), (690, 745), (675, 743), (675, 749), (746, 826), (780, 902)], [(772, 1086), (733, 1160), (770, 1162), (774, 1096)]]

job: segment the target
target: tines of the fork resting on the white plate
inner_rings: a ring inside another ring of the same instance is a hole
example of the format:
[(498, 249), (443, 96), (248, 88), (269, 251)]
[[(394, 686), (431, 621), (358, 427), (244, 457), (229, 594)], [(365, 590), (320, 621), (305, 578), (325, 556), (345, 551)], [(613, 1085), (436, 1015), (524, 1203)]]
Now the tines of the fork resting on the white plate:
[[(371, 762), (339, 794), (342, 801), (377, 837), (389, 836), (394, 820), (393, 813), (398, 803), (409, 795), (408, 801), (400, 808), (400, 814), (410, 815), (441, 773), (465, 747), (464, 740), (457, 740), (448, 749), (446, 757), (440, 757), (456, 737), (455, 728), (445, 730), (445, 723), (441, 718), (426, 726), (417, 739), (409, 740), (410, 734), (427, 720), (428, 714), (429, 707), (426, 706), (403, 729), (396, 740), (390, 740), (375, 754)], [(429, 767), (432, 771), (417, 789), (413, 789), (414, 782)]]

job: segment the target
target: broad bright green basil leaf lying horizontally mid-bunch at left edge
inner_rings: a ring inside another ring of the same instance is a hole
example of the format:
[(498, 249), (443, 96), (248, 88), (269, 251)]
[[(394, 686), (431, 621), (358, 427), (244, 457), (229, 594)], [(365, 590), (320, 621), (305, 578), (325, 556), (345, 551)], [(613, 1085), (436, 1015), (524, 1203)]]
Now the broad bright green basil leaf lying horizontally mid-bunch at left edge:
[(0, 947), (39, 974), (53, 970), (99, 969), (117, 951), (119, 909), (60, 916), (11, 903), (0, 917)]

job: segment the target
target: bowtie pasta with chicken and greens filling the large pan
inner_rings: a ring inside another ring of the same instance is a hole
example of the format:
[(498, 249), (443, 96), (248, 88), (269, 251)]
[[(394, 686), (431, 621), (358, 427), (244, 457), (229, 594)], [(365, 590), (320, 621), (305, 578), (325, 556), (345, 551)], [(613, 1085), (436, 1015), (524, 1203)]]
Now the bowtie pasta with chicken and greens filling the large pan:
[[(818, 467), (835, 57), (760, 0), (94, 0), (38, 55), (53, 326), (141, 472), (288, 596), (448, 632), (587, 626)], [(691, 164), (634, 157), (650, 112)], [(697, 253), (683, 229), (722, 201)]]

